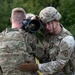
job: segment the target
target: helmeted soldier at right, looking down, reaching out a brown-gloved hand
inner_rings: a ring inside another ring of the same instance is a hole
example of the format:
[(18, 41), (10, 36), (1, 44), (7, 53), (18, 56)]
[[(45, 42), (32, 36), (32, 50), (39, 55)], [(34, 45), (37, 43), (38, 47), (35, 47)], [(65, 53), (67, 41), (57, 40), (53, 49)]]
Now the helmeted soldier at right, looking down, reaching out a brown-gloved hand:
[(74, 52), (73, 35), (60, 24), (61, 14), (54, 7), (46, 7), (39, 14), (44, 22), (44, 40), (46, 57), (41, 59), (41, 64), (22, 64), (21, 71), (41, 71), (45, 75), (74, 75), (71, 57)]

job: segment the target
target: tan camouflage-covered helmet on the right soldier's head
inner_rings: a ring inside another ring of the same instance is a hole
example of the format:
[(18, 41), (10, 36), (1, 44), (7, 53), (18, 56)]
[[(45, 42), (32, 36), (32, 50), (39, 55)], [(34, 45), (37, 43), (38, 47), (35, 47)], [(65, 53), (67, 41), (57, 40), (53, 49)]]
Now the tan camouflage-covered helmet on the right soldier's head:
[(41, 10), (39, 17), (44, 23), (47, 23), (52, 20), (60, 20), (61, 14), (54, 7), (46, 7)]

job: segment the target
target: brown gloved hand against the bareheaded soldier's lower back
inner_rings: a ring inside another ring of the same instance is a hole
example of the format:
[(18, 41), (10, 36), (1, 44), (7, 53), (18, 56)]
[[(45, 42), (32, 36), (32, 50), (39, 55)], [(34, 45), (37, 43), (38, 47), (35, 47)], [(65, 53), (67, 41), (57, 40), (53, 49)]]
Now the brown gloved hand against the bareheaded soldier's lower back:
[(19, 70), (22, 72), (32, 72), (38, 70), (38, 64), (35, 63), (23, 63), (19, 65)]

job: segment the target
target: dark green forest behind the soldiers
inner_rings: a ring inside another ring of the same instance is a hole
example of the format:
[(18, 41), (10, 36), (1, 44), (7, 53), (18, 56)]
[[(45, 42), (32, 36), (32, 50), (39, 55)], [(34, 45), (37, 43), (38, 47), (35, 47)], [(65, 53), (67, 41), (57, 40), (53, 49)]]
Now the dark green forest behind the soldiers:
[(14, 7), (38, 15), (47, 6), (53, 6), (61, 13), (60, 23), (75, 36), (75, 0), (0, 0), (0, 32), (11, 27), (10, 16)]

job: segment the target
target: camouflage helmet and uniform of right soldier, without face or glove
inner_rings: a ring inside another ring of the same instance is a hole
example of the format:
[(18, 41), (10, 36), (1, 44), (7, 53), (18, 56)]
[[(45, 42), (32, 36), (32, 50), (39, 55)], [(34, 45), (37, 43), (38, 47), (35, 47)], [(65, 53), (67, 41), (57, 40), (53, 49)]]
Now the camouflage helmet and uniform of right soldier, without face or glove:
[[(59, 22), (61, 14), (54, 7), (46, 7), (41, 10), (39, 17), (44, 23), (55, 20)], [(74, 38), (63, 26), (61, 28), (58, 35), (47, 34), (43, 40), (49, 56), (46, 63), (39, 64), (39, 69), (45, 75), (75, 75)]]

